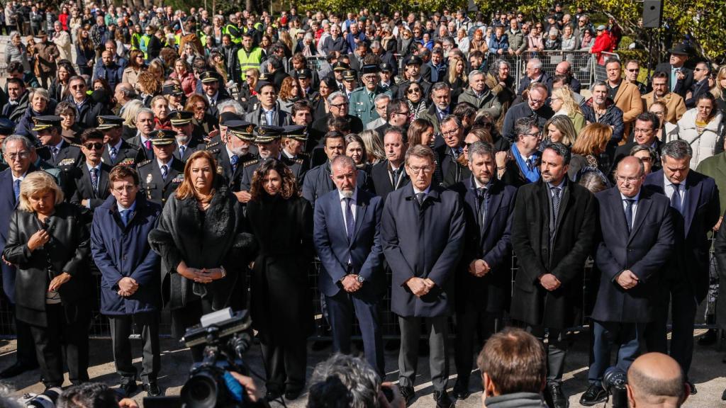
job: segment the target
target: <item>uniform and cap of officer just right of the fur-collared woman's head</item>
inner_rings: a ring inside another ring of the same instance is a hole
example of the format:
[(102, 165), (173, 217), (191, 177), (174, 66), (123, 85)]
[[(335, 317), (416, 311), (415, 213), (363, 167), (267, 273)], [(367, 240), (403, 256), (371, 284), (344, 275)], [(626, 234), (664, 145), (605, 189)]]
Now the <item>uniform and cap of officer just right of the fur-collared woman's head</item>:
[[(246, 121), (227, 121), (225, 126), (227, 126), (227, 135), (229, 137), (237, 137), (250, 143), (255, 141), (253, 133), (255, 126), (252, 123)], [(211, 152), (217, 160), (217, 174), (224, 177), (225, 183), (229, 186), (232, 192), (241, 191), (240, 185), (242, 183), (242, 174), (244, 172), (245, 163), (256, 160), (257, 155), (248, 152), (246, 155), (238, 156), (237, 163), (232, 166), (232, 160), (229, 157), (226, 144), (216, 143), (213, 146), (208, 145), (207, 150)]]

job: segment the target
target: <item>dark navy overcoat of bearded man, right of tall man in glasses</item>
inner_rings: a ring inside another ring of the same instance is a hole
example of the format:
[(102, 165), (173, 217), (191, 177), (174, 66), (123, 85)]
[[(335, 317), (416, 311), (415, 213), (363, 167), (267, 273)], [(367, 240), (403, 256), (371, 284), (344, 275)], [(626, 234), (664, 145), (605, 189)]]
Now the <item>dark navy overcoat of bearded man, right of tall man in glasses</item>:
[[(477, 311), (501, 313), (510, 298), (511, 229), (517, 189), (492, 180), (483, 229), (478, 220), (473, 177), (455, 184), (452, 190), (462, 197), (466, 219), (464, 255), (456, 274), (457, 311), (465, 313), (473, 307)], [(491, 268), (484, 277), (468, 272), (469, 264), (476, 259), (484, 259)]]

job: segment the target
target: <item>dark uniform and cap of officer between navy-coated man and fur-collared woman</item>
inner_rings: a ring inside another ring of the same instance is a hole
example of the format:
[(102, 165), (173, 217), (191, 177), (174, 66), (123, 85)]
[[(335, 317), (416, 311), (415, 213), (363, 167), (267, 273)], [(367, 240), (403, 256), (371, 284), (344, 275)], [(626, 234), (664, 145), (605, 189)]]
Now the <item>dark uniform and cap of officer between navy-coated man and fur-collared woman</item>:
[[(175, 142), (174, 131), (168, 129), (157, 129), (152, 131), (152, 144), (157, 146), (172, 144)], [(181, 181), (184, 180), (184, 163), (175, 158), (171, 159), (166, 179), (161, 176), (161, 168), (157, 159), (145, 160), (139, 163), (136, 170), (139, 172), (141, 191), (146, 195), (147, 200), (164, 205), (166, 200), (176, 191)]]

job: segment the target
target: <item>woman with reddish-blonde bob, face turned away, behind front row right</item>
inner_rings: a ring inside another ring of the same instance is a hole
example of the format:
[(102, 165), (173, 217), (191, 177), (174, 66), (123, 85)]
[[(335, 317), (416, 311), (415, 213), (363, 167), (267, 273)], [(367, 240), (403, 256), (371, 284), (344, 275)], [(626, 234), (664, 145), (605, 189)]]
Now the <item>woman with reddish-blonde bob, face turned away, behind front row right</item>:
[(572, 144), (570, 159), (570, 168), (567, 171), (568, 176), (574, 182), (579, 177), (584, 168), (592, 168), (607, 174), (608, 169), (604, 163), (600, 163), (600, 153), (605, 152), (610, 138), (613, 136), (613, 129), (603, 123), (590, 123), (585, 126), (579, 136)]

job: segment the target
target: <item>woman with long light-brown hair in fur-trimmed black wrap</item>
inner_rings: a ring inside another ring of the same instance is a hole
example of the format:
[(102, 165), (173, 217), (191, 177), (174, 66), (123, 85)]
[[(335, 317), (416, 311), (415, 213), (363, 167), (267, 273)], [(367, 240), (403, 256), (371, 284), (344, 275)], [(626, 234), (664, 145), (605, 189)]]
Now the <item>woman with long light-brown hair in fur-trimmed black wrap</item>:
[[(184, 181), (149, 234), (152, 250), (161, 256), (162, 298), (171, 309), (176, 338), (199, 324), (204, 314), (245, 305), (243, 272), (254, 239), (245, 233), (242, 207), (216, 168), (209, 152), (192, 154), (184, 166)], [(195, 362), (202, 354), (203, 346), (192, 347)]]

